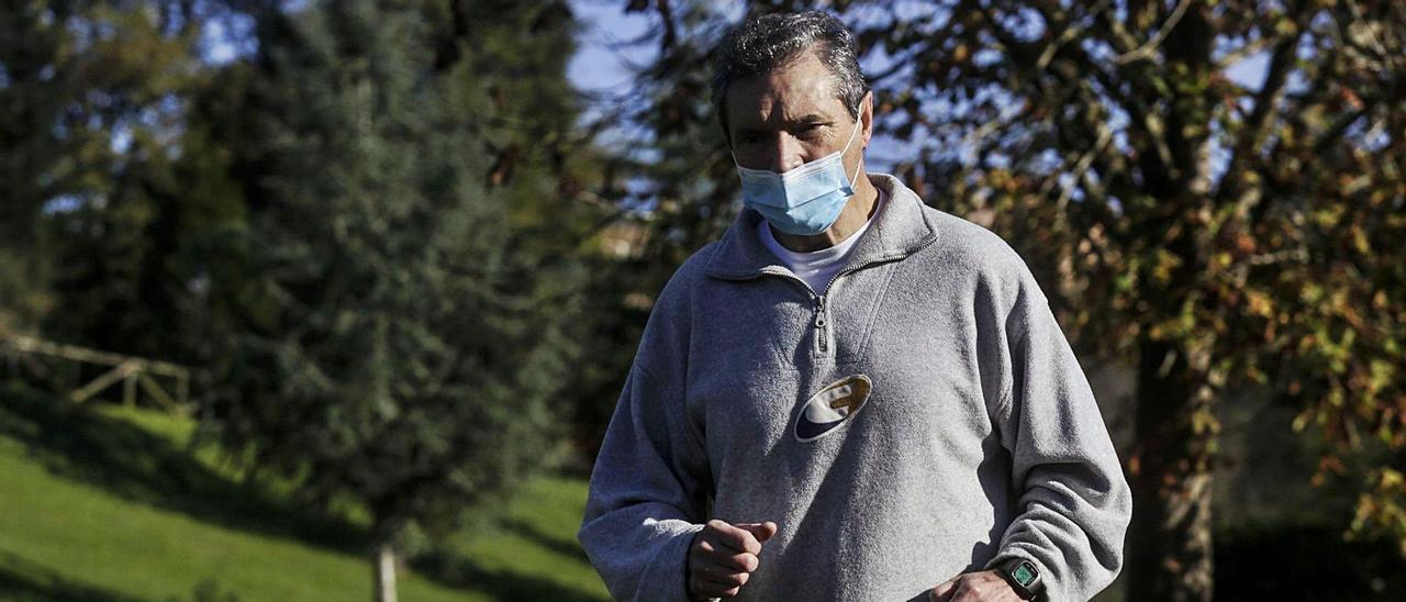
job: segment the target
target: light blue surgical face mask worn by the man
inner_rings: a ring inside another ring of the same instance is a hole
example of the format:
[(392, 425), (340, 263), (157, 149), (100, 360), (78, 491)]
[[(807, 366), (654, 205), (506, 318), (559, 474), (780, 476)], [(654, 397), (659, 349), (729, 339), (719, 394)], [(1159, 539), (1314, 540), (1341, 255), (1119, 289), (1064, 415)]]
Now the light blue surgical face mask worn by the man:
[(814, 236), (824, 232), (839, 219), (845, 203), (855, 194), (853, 179), (859, 177), (859, 165), (863, 162), (855, 165), (853, 176), (845, 177), (845, 163), (841, 159), (858, 132), (856, 120), (844, 149), (786, 173), (737, 166), (737, 174), (742, 179), (742, 207), (762, 214), (772, 228), (790, 235)]

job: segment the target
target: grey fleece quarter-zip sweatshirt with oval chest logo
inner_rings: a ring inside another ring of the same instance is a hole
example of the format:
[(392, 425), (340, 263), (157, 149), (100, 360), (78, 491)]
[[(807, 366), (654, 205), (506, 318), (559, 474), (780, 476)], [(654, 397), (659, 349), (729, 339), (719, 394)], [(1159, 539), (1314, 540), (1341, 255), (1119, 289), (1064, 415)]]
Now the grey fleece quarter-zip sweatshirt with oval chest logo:
[(686, 601), (710, 518), (775, 520), (740, 601), (908, 601), (998, 560), (1052, 601), (1122, 565), (1132, 497), (1074, 353), (1000, 238), (889, 203), (817, 295), (744, 211), (669, 280), (578, 537), (616, 599)]

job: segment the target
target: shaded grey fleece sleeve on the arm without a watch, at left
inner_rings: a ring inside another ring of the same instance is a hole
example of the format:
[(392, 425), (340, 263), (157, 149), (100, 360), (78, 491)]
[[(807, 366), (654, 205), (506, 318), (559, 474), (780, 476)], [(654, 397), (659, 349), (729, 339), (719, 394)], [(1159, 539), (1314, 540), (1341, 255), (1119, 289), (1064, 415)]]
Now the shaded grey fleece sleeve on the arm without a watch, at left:
[(688, 549), (711, 482), (681, 387), (636, 360), (591, 475), (576, 537), (617, 601), (688, 601)]

